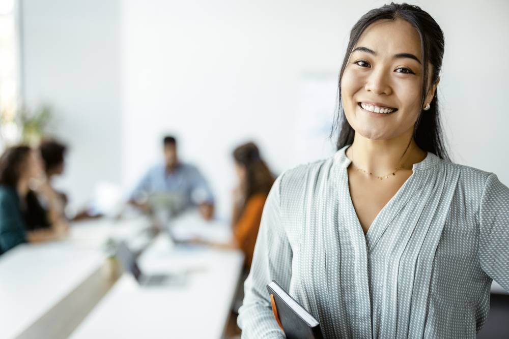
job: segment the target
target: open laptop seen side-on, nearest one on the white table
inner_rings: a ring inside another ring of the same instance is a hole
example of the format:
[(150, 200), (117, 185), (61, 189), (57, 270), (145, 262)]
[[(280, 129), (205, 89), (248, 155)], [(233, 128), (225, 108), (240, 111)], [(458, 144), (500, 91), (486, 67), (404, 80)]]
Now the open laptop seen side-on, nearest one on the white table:
[(124, 271), (130, 272), (134, 279), (142, 286), (162, 286), (162, 285), (183, 285), (185, 276), (183, 274), (144, 274), (139, 268), (134, 253), (122, 241), (117, 248), (117, 258), (119, 259)]

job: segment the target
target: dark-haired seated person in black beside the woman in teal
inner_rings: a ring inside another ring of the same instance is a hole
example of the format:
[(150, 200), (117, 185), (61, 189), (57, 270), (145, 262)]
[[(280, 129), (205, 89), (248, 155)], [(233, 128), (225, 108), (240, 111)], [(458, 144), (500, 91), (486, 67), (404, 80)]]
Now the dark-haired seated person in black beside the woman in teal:
[(64, 209), (67, 203), (65, 194), (51, 186), (51, 179), (64, 171), (64, 156), (67, 147), (54, 140), (43, 141), (39, 145), (44, 165), (44, 175), (35, 182), (37, 188), (26, 195), (24, 219), (27, 230), (48, 228), (55, 224), (67, 224)]

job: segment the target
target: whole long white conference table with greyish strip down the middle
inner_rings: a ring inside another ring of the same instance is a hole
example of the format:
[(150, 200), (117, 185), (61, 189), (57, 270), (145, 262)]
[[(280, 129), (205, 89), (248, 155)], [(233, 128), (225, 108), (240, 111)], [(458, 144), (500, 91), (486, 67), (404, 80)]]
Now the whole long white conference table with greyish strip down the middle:
[[(187, 220), (187, 221), (186, 221)], [(196, 217), (183, 218), (183, 224)], [(203, 229), (207, 225), (201, 223)], [(214, 224), (214, 223), (212, 223)], [(218, 224), (218, 223), (216, 223)], [(109, 312), (109, 307), (117, 307), (117, 298), (124, 293), (131, 300), (131, 307), (148, 306), (161, 314), (175, 314), (184, 318), (182, 305), (210, 296), (208, 282), (218, 282), (215, 296), (222, 300), (222, 309), (215, 309), (210, 318), (210, 333), (222, 333), (228, 320), (229, 307), (237, 286), (243, 258), (237, 250), (216, 250), (208, 246), (175, 245), (167, 233), (153, 239), (151, 221), (146, 217), (127, 220), (100, 219), (74, 223), (69, 235), (60, 241), (21, 244), (0, 257), (0, 323), (2, 338), (67, 338), (73, 332), (76, 337), (106, 336), (115, 326), (115, 317), (110, 324), (95, 326), (94, 314)], [(224, 226), (224, 223), (222, 223)], [(200, 228), (198, 227), (198, 228)], [(214, 227), (213, 227), (214, 228)], [(190, 227), (196, 229), (196, 227)], [(216, 227), (222, 234), (228, 227)], [(217, 234), (218, 232), (216, 232)], [(165, 237), (166, 235), (166, 237)], [(151, 270), (168, 271), (180, 269), (188, 276), (188, 283), (175, 288), (139, 289), (131, 276), (124, 274), (117, 281), (104, 275), (107, 242), (126, 241), (135, 252), (142, 252), (140, 265)], [(216, 264), (214, 266), (214, 263)], [(217, 264), (219, 263), (219, 264)], [(166, 298), (166, 299), (165, 299)], [(111, 301), (111, 302), (108, 302)], [(176, 302), (180, 300), (180, 303)], [(108, 306), (109, 305), (109, 306)], [(220, 307), (221, 308), (221, 307)], [(198, 312), (201, 316), (201, 314)], [(88, 316), (89, 315), (89, 316)], [(87, 317), (88, 316), (88, 317)], [(86, 321), (79, 326), (83, 319)], [(178, 318), (175, 318), (178, 320)], [(162, 328), (168, 319), (141, 317), (153, 328)], [(79, 327), (78, 327), (79, 326)], [(209, 325), (207, 325), (209, 326)], [(125, 328), (125, 326), (124, 326)], [(77, 330), (76, 330), (77, 329)], [(100, 335), (88, 336), (87, 331)], [(84, 336), (83, 336), (84, 335)], [(221, 334), (202, 336), (219, 338)], [(119, 337), (119, 336), (113, 336)], [(120, 337), (129, 337), (121, 335)], [(150, 337), (145, 333), (138, 337)]]

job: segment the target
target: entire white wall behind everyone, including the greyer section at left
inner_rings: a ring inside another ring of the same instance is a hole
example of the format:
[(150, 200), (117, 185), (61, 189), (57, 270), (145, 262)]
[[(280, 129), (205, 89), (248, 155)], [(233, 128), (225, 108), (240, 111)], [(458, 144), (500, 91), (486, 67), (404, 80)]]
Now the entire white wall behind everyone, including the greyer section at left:
[[(275, 172), (322, 155), (300, 153), (299, 124), (309, 106), (303, 79), (335, 77), (351, 26), (384, 3), (24, 2), (27, 97), (44, 97), (70, 114), (62, 133), (73, 143), (66, 178), (72, 193), (101, 177), (131, 187), (159, 159), (160, 138), (169, 132), (179, 137), (182, 158), (211, 181), (222, 215), (239, 142), (259, 142)], [(445, 33), (439, 96), (454, 160), (509, 184), (509, 3), (416, 4)], [(96, 119), (105, 127), (92, 137)]]

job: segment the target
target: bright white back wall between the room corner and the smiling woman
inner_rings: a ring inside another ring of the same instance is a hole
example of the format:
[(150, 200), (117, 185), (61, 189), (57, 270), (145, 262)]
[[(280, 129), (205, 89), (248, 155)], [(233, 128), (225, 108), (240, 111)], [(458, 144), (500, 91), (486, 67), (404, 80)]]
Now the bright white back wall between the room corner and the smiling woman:
[[(210, 179), (221, 214), (238, 143), (257, 141), (275, 172), (293, 166), (301, 76), (335, 77), (347, 34), (332, 4), (125, 1), (124, 182), (158, 158), (165, 131)], [(332, 120), (334, 89), (330, 99)]]

